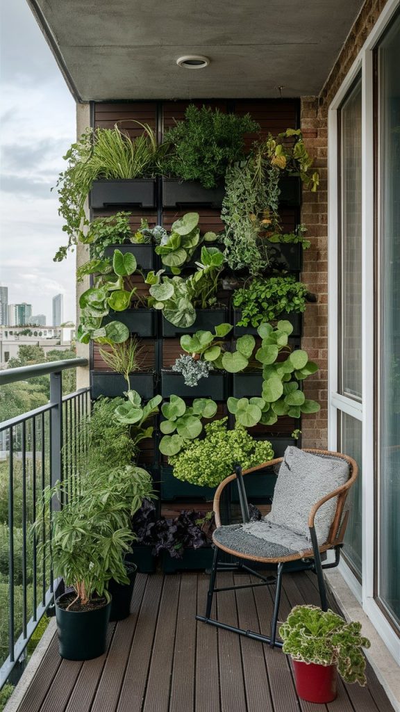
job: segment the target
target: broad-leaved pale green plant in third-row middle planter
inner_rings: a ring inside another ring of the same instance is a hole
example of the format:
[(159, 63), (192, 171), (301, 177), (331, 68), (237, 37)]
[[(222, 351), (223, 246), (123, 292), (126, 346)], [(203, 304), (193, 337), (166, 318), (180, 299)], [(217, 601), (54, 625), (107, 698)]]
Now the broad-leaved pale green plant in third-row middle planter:
[(187, 328), (196, 320), (196, 308), (206, 309), (216, 304), (218, 278), (223, 255), (217, 248), (201, 248), (201, 262), (189, 277), (167, 277), (164, 270), (149, 272), (149, 308), (162, 310), (167, 321)]

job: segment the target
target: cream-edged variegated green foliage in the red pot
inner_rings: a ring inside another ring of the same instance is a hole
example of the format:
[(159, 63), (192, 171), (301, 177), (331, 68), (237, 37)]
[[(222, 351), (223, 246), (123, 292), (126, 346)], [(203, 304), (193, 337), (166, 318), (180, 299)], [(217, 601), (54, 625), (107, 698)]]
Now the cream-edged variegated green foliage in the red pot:
[(371, 644), (360, 632), (361, 623), (347, 623), (333, 611), (311, 605), (295, 606), (279, 629), (283, 652), (293, 660), (337, 665), (344, 682), (364, 686), (367, 679), (362, 648)]

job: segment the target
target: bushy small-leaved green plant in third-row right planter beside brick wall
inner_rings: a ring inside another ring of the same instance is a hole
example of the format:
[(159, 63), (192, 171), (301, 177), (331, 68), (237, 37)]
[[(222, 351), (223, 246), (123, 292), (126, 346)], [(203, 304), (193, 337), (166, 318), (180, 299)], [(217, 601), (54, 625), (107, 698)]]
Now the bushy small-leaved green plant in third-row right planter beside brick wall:
[(233, 294), (233, 305), (241, 309), (239, 326), (259, 326), (274, 321), (283, 313), (305, 311), (307, 287), (292, 275), (253, 279)]

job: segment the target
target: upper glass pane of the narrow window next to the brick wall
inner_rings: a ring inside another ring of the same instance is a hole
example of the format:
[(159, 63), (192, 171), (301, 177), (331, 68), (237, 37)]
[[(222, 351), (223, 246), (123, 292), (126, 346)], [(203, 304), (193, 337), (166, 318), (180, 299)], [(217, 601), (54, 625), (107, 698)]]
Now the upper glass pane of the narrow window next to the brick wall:
[(341, 384), (342, 393), (362, 396), (362, 144), (361, 78), (340, 109)]

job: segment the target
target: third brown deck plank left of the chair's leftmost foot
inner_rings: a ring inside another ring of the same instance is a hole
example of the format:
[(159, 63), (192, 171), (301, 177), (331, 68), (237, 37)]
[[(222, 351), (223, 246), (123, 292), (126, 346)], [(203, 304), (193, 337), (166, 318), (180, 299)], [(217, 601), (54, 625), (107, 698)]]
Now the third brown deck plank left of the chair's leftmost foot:
[(117, 712), (142, 711), (163, 584), (164, 577), (161, 574), (149, 577), (132, 646), (128, 653)]

